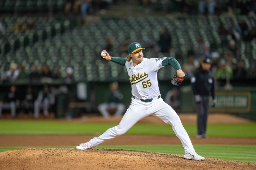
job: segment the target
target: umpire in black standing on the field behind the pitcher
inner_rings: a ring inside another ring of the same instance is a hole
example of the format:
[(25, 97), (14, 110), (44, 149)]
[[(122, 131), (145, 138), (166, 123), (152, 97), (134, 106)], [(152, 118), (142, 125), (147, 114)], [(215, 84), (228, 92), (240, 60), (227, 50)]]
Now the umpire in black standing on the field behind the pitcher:
[(206, 124), (209, 110), (209, 93), (212, 94), (212, 107), (215, 106), (215, 85), (211, 68), (211, 61), (205, 58), (201, 67), (191, 78), (191, 87), (195, 97), (197, 112), (197, 136), (196, 138), (207, 138)]

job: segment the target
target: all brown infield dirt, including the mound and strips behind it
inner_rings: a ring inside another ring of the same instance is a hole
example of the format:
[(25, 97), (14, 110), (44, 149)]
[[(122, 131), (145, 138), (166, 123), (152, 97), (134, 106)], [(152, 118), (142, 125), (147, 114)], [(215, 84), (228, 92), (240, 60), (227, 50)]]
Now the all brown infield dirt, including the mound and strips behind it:
[[(222, 117), (223, 119), (220, 119)], [(183, 123), (195, 123), (195, 115), (180, 115)], [(72, 122), (119, 122), (121, 118), (80, 119)], [(220, 121), (223, 120), (223, 121)], [(64, 120), (63, 120), (64, 121)], [(209, 123), (248, 123), (230, 115), (212, 115)], [(160, 119), (148, 117), (139, 123), (162, 124)], [(92, 135), (1, 135), (0, 146), (77, 145)], [(255, 138), (209, 137), (196, 139), (193, 144), (256, 144)], [(104, 144), (180, 144), (177, 137), (124, 135)], [(126, 151), (114, 149), (37, 149), (27, 148), (0, 152), (0, 169), (256, 169), (256, 163), (206, 158), (205, 161), (183, 159), (168, 153)]]

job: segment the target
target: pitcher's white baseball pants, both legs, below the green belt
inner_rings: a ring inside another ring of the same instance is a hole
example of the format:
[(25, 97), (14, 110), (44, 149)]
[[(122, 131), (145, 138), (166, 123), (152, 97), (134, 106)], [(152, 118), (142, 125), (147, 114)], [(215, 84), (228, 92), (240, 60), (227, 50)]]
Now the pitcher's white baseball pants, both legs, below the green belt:
[(176, 136), (180, 139), (185, 154), (194, 152), (193, 145), (189, 139), (188, 133), (182, 126), (180, 117), (168, 104), (164, 102), (162, 98), (153, 99), (152, 102), (143, 102), (140, 99), (133, 99), (130, 107), (127, 109), (121, 122), (108, 129), (99, 137), (94, 137), (88, 142), (88, 146), (93, 148), (98, 144), (101, 144), (109, 139), (118, 137), (127, 132), (136, 122), (147, 117), (149, 115), (154, 115), (162, 119), (165, 123), (172, 125), (172, 129)]

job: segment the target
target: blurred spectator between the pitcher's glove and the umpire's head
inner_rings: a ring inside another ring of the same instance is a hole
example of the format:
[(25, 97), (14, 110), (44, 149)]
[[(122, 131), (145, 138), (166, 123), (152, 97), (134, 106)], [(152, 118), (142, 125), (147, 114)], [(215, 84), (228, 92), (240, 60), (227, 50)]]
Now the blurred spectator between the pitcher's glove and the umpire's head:
[(183, 64), (182, 68), (183, 71), (188, 75), (188, 78), (191, 78), (196, 69), (199, 68), (199, 63), (194, 59), (192, 54), (188, 54), (186, 63)]

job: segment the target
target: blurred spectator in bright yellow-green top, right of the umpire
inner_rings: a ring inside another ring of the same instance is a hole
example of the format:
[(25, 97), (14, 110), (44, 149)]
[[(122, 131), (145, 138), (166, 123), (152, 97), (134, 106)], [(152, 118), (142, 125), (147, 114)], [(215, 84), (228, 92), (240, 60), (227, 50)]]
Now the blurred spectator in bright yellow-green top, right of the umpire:
[(229, 67), (225, 60), (221, 61), (221, 66), (216, 73), (217, 79), (233, 79), (233, 70)]

